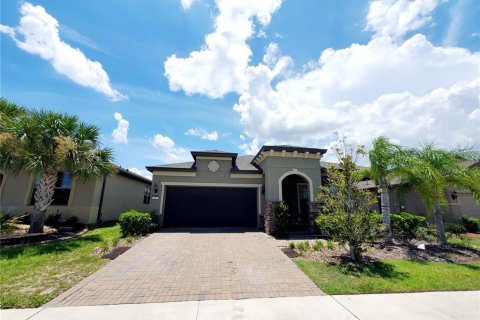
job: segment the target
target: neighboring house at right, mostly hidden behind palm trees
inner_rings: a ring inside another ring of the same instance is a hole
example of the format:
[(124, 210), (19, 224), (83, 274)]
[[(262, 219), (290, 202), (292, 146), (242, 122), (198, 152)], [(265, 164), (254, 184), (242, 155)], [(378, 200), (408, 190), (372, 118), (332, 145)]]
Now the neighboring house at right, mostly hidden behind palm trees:
[[(469, 168), (480, 167), (480, 162), (465, 162)], [(426, 216), (425, 206), (419, 194), (415, 191), (401, 191), (400, 181), (393, 181), (389, 190), (391, 213), (408, 212)], [(377, 187), (371, 180), (363, 181), (361, 188), (376, 191)], [(446, 222), (457, 223), (462, 215), (480, 219), (480, 205), (475, 201), (470, 191), (448, 188), (445, 190), (447, 206), (443, 210)], [(380, 200), (379, 200), (380, 201)]]

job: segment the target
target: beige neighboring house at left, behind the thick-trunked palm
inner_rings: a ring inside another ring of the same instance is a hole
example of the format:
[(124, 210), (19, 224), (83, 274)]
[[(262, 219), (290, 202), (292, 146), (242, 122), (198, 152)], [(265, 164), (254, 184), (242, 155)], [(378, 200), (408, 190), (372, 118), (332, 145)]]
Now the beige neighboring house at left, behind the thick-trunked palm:
[[(32, 213), (35, 182), (35, 177), (25, 172), (0, 173), (0, 212)], [(147, 211), (150, 190), (149, 179), (120, 167), (111, 176), (86, 182), (73, 178), (68, 172), (60, 172), (47, 216), (59, 212), (62, 219), (77, 216), (87, 224), (117, 220), (126, 210)]]

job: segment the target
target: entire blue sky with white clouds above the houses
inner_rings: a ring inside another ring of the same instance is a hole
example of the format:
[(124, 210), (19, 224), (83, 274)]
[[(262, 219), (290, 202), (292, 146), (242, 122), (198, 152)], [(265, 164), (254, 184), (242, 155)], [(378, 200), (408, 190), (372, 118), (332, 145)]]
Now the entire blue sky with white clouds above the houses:
[(478, 16), (475, 0), (2, 1), (1, 95), (97, 124), (142, 174), (334, 132), (478, 146)]

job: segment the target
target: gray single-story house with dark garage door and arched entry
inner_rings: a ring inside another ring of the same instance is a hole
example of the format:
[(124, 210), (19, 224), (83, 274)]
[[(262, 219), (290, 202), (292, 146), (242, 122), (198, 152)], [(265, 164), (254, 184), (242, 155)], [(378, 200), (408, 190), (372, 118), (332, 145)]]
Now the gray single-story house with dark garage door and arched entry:
[(164, 227), (263, 227), (271, 232), (272, 203), (285, 201), (291, 228), (309, 229), (319, 206), (325, 149), (263, 146), (255, 156), (192, 151), (193, 161), (148, 166), (150, 209)]

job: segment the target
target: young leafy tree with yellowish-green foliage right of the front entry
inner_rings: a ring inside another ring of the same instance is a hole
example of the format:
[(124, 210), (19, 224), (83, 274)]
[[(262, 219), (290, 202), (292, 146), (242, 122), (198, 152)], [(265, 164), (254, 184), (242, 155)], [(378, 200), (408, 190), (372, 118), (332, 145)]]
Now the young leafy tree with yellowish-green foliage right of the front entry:
[(339, 169), (328, 168), (328, 186), (322, 186), (318, 200), (324, 203), (324, 212), (316, 219), (319, 229), (349, 251), (352, 260), (359, 260), (362, 245), (377, 239), (383, 226), (377, 223), (373, 209), (377, 204), (374, 194), (357, 186), (360, 178), (354, 172), (356, 160), (365, 154), (363, 146), (341, 138), (335, 146)]

